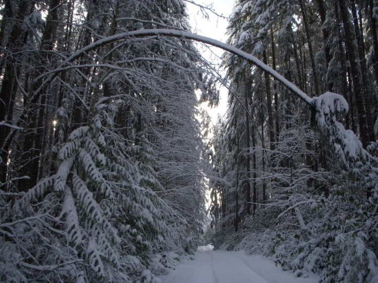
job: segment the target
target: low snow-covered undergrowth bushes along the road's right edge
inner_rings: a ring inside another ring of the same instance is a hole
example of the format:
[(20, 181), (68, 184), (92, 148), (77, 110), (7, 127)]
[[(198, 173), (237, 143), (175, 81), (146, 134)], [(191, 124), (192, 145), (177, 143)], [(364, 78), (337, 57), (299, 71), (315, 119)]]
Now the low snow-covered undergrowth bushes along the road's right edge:
[(268, 223), (278, 211), (267, 207), (250, 217), (239, 233), (218, 232), (215, 237), (221, 241), (215, 241), (216, 248), (263, 254), (296, 276), (318, 273), (322, 282), (376, 282), (377, 222), (371, 215), (374, 210), (366, 213), (371, 204), (335, 187), (329, 197), (308, 195), (308, 201), (297, 207), (302, 225), (288, 206), (280, 210), (289, 208), (278, 222)]

